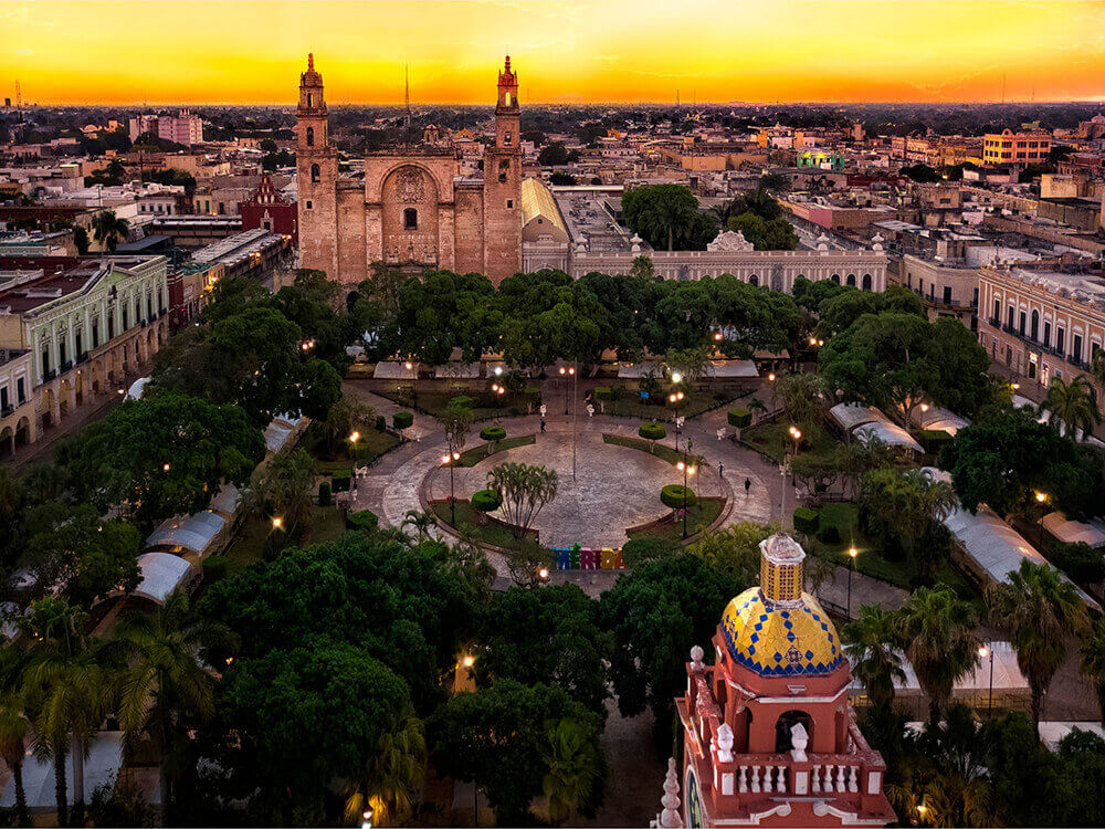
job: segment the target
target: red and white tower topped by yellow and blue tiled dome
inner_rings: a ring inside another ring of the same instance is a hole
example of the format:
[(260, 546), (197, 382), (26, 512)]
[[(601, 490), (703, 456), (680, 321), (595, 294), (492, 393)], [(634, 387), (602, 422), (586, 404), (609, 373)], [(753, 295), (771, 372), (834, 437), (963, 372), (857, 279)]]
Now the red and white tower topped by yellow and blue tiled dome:
[(760, 556), (760, 586), (726, 606), (714, 664), (692, 649), (676, 700), (685, 823), (884, 826), (886, 766), (855, 724), (836, 630), (802, 589), (806, 553), (779, 533)]

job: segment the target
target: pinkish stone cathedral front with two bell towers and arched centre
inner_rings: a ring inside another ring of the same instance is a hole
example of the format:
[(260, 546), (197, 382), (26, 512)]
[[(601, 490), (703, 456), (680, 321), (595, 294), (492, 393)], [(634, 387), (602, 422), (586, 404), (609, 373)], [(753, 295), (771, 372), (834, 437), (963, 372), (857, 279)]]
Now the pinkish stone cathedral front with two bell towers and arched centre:
[(299, 77), (295, 133), (303, 267), (345, 285), (369, 276), (373, 262), (412, 273), (476, 271), (495, 284), (522, 270), (518, 76), (509, 55), (482, 176), (461, 175), (460, 154), (434, 145), (369, 153), (362, 178), (340, 174), (314, 55)]

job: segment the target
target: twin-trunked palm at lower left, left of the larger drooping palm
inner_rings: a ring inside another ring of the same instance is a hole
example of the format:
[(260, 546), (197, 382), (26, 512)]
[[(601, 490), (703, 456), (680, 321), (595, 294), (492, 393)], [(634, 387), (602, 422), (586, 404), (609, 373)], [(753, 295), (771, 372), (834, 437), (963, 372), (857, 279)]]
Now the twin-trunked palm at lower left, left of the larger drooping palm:
[(85, 627), (88, 616), (64, 599), (52, 596), (31, 606), (21, 625), (32, 639), (25, 670), (34, 695), (34, 752), (54, 763), (57, 822), (69, 819), (65, 757), (73, 755), (73, 816), (83, 821), (84, 758), (93, 734), (107, 714), (108, 682), (99, 653), (93, 650)]

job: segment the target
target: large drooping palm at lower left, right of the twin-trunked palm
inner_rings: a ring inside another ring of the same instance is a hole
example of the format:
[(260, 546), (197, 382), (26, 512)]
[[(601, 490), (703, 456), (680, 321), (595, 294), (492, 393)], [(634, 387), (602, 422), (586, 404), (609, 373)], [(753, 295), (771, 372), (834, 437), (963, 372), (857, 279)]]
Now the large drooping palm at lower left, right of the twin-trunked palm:
[(105, 648), (122, 665), (119, 725), (128, 744), (146, 732), (157, 745), (164, 810), (171, 797), (166, 759), (179, 736), (181, 712), (206, 718), (214, 707), (214, 678), (199, 657), (206, 632), (188, 618), (187, 594), (175, 590), (156, 615), (135, 610), (120, 616)]

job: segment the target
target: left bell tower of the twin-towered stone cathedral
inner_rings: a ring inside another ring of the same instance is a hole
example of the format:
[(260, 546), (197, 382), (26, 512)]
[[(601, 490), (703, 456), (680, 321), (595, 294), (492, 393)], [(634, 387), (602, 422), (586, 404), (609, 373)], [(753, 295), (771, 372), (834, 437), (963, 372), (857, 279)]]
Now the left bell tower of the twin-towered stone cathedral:
[(299, 103), (295, 113), (295, 169), (298, 188), (299, 256), (303, 267), (326, 271), (338, 279), (337, 220), (338, 155), (330, 146), (323, 76), (315, 71), (315, 55), (307, 55), (307, 71), (299, 75)]

